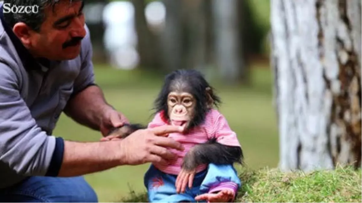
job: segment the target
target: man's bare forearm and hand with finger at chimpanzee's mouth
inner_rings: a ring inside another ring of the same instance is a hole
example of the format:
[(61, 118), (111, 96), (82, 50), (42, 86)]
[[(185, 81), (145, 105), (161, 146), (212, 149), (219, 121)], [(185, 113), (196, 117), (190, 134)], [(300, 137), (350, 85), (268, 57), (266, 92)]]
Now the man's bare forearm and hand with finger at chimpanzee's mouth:
[(164, 136), (182, 131), (180, 126), (165, 125), (137, 130), (125, 139), (111, 142), (65, 141), (59, 176), (80, 176), (120, 165), (138, 165), (173, 159), (176, 155), (167, 148), (176, 150), (184, 148), (181, 143)]

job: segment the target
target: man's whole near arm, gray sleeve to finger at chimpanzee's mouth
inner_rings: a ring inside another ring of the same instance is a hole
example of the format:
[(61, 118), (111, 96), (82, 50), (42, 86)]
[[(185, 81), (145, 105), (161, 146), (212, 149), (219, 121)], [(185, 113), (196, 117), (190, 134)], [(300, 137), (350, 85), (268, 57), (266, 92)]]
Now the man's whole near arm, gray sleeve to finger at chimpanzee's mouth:
[(79, 176), (125, 164), (143, 164), (167, 159), (167, 148), (182, 150), (171, 138), (182, 132), (178, 126), (138, 130), (123, 140), (72, 142), (47, 135), (31, 116), (21, 98), (17, 76), (0, 63), (0, 162), (24, 176)]

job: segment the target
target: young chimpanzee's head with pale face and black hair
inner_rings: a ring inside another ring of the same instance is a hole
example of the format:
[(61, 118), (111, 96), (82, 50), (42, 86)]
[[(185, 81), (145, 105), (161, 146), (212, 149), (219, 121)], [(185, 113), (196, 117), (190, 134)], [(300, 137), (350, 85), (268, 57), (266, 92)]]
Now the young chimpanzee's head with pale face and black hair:
[(209, 109), (220, 102), (197, 70), (176, 70), (166, 76), (155, 109), (164, 112), (171, 125), (185, 126), (188, 131), (201, 124)]

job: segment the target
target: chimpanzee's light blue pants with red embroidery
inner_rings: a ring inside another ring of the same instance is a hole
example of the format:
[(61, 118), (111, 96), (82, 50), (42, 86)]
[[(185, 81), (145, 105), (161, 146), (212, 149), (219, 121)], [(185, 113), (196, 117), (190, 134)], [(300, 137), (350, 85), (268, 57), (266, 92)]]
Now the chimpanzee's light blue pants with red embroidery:
[[(187, 186), (185, 193), (176, 193), (177, 176), (161, 172), (152, 164), (144, 176), (144, 186), (147, 188), (150, 203), (178, 203), (182, 201), (196, 203), (195, 196), (209, 192), (221, 182), (234, 182), (239, 188), (241, 181), (232, 165), (209, 164), (207, 169), (195, 174), (191, 189)], [(206, 201), (198, 201), (206, 203)]]

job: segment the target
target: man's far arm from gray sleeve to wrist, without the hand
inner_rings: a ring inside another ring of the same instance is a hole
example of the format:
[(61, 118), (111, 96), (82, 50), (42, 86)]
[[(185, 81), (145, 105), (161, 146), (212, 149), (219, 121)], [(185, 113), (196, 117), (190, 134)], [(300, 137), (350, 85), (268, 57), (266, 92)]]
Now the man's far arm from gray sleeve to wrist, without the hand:
[(82, 40), (81, 70), (74, 82), (73, 94), (64, 113), (76, 122), (94, 130), (100, 130), (102, 113), (113, 109), (105, 100), (100, 87), (95, 84), (92, 43), (89, 30)]

